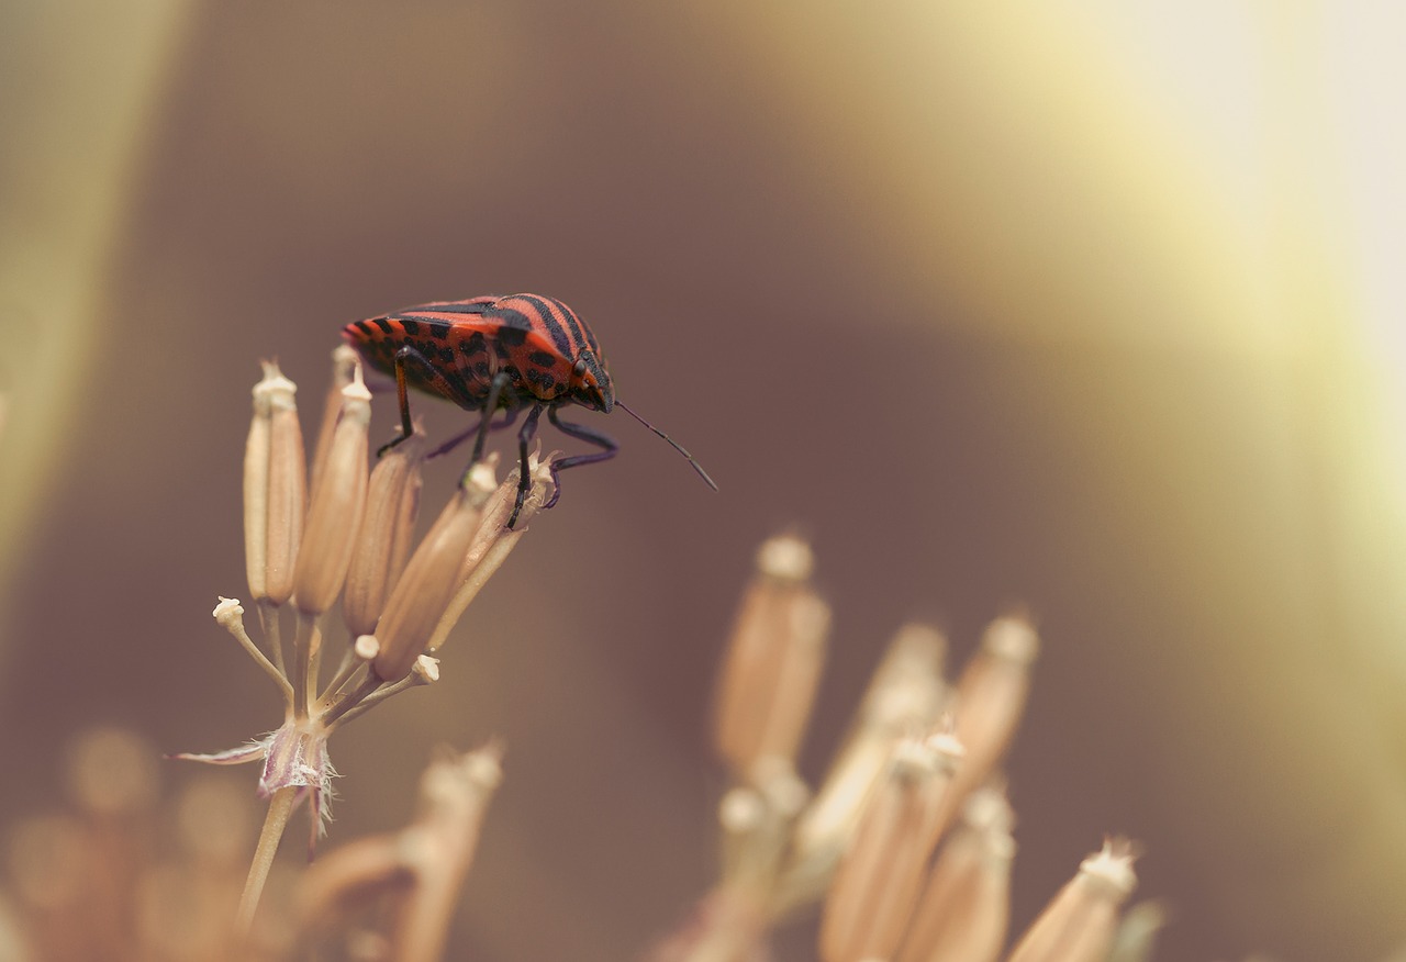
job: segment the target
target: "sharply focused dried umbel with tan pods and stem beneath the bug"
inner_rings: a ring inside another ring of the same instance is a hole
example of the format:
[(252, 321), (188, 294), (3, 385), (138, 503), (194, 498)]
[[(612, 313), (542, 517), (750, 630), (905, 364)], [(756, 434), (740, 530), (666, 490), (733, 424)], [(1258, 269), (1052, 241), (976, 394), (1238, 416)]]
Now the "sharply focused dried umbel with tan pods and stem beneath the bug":
[[(217, 765), (263, 762), (259, 795), (269, 800), (269, 812), (240, 897), (242, 932), (253, 924), (292, 810), (308, 803), (309, 852), (323, 831), (336, 776), (329, 737), (387, 698), (439, 678), (430, 653), (444, 644), (468, 602), (546, 504), (557, 457), (530, 458), (529, 496), (512, 530), (506, 522), (516, 473), (499, 484), (496, 457), (474, 466), (411, 551), (426, 446), (415, 435), (368, 473), (371, 394), (349, 352), (342, 346), (333, 353), (333, 387), (323, 406), (311, 498), (297, 387), (277, 364), (264, 364), (253, 390), (243, 487), (249, 591), (264, 647), (245, 629), (238, 599), (221, 598), (214, 612), (278, 686), (284, 722), (273, 734), (231, 751), (176, 755)], [(349, 643), (325, 682), (323, 631), (339, 599)], [(292, 620), (291, 644), (284, 641), (285, 612)]]

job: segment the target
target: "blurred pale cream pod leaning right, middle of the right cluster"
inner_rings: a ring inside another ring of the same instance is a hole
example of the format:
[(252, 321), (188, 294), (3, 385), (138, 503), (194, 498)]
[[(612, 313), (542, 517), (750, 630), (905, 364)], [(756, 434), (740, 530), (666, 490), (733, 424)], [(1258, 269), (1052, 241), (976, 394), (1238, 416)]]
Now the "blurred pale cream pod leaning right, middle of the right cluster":
[(948, 641), (928, 624), (904, 624), (875, 669), (830, 774), (796, 826), (796, 900), (817, 896), (853, 833), (865, 799), (904, 736), (929, 731), (949, 698)]

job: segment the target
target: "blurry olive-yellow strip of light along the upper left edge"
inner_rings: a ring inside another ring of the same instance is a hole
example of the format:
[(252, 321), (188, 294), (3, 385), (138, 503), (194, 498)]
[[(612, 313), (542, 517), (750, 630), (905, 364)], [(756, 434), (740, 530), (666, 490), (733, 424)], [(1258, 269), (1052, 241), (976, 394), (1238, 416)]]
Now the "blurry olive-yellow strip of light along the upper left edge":
[[(0, 10), (0, 586), (20, 563), (84, 390), (153, 105), (186, 0)], [(0, 601), (0, 610), (4, 610)]]

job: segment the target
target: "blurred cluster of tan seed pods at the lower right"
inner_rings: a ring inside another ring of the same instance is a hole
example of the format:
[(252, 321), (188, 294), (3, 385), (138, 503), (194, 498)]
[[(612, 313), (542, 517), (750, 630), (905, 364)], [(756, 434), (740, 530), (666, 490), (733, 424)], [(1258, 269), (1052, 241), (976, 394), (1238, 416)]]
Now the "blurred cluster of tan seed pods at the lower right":
[[(720, 878), (647, 958), (761, 962), (773, 925), (823, 902), (824, 962), (994, 962), (1015, 854), (998, 765), (1025, 706), (1035, 630), (1024, 616), (993, 622), (953, 686), (943, 634), (903, 626), (811, 796), (793, 764), (830, 620), (811, 567), (810, 547), (792, 534), (758, 553), (716, 703), (714, 748), (731, 775), (718, 806)], [(1012, 962), (1083, 962), (1087, 945), (1107, 945), (1130, 880), (1125, 848), (1087, 862), (1081, 879), (1022, 949), (1074, 954)], [(1071, 917), (1081, 921), (1059, 921)], [(1149, 942), (1146, 925), (1129, 932), (1133, 951)]]

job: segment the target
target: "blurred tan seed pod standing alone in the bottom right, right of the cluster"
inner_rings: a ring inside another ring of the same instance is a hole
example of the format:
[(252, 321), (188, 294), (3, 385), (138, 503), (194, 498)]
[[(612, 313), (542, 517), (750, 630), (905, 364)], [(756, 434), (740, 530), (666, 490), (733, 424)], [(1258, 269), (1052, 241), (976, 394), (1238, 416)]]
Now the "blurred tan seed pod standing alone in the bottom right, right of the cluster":
[(1118, 910), (1137, 887), (1133, 845), (1123, 838), (1104, 842), (1011, 952), (1010, 962), (1104, 962), (1118, 930)]

